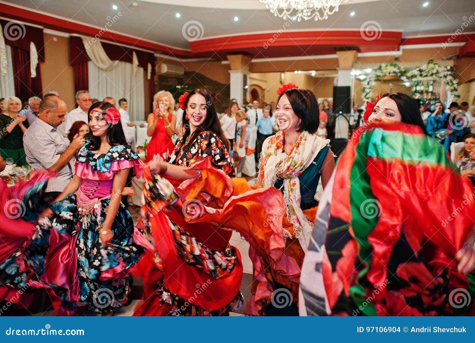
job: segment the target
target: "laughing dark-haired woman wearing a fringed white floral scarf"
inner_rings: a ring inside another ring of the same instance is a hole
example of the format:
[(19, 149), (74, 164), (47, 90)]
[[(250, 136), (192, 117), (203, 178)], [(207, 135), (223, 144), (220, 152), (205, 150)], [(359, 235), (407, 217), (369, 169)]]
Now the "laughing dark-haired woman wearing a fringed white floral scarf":
[[(251, 244), (253, 307), (248, 305), (247, 312), (255, 315), (298, 315), (300, 268), (318, 206), (314, 196), (320, 177), (325, 187), (334, 168), (330, 141), (315, 134), (319, 125), (315, 95), (293, 84), (279, 88), (277, 94), (275, 117), (280, 131), (263, 144), (257, 183), (284, 195), (284, 246), (276, 263), (271, 253)], [(274, 238), (270, 246), (273, 243)]]

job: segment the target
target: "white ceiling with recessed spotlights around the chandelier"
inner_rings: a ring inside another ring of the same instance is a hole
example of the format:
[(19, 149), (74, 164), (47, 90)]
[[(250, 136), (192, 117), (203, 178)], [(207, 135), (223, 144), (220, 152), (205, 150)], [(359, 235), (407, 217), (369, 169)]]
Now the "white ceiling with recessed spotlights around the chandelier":
[[(1, 2), (1, 1), (0, 1)], [(132, 3), (137, 3), (134, 7)], [(190, 20), (203, 27), (202, 38), (259, 31), (357, 29), (369, 20), (377, 21), (382, 30), (403, 31), (403, 37), (430, 34), (452, 34), (457, 29), (475, 31), (475, 20), (463, 25), (474, 15), (472, 0), (349, 0), (324, 21), (294, 22), (274, 17), (258, 0), (9, 0), (45, 14), (104, 28), (108, 16), (121, 12), (111, 31), (132, 35), (178, 48), (190, 48), (182, 29)], [(118, 6), (113, 10), (112, 5)], [(194, 6), (184, 6), (194, 4)], [(1, 10), (0, 10), (1, 11)], [(354, 11), (355, 15), (350, 16)], [(180, 13), (180, 18), (175, 14)], [(238, 21), (233, 18), (237, 16)], [(464, 18), (465, 16), (465, 18)]]

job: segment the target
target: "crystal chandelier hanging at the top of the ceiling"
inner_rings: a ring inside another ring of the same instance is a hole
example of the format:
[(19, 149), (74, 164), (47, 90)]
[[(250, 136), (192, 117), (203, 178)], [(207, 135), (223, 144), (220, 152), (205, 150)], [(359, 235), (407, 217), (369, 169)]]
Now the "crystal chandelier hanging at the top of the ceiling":
[[(338, 11), (342, 0), (259, 0), (276, 17), (301, 21), (328, 19)], [(346, 2), (347, 0), (345, 0)]]

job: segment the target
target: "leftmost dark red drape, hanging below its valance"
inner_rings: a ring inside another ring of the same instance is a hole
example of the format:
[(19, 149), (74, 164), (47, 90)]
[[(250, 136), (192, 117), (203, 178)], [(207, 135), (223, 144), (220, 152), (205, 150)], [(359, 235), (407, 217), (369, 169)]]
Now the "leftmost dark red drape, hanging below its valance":
[(13, 62), (13, 78), (15, 94), (22, 102), (32, 96), (42, 97), (41, 73), (39, 64), (36, 67), (36, 77), (31, 77), (29, 51), (10, 46)]

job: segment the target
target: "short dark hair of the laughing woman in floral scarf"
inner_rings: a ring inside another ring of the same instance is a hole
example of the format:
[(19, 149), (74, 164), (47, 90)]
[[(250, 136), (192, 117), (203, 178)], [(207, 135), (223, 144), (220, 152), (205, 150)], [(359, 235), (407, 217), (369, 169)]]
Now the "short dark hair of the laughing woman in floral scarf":
[(302, 120), (302, 124), (297, 131), (315, 133), (320, 124), (320, 111), (318, 110), (318, 102), (314, 93), (310, 89), (290, 88), (279, 95), (277, 103), (279, 103), (280, 98), (284, 94), (289, 99), (295, 115)]

